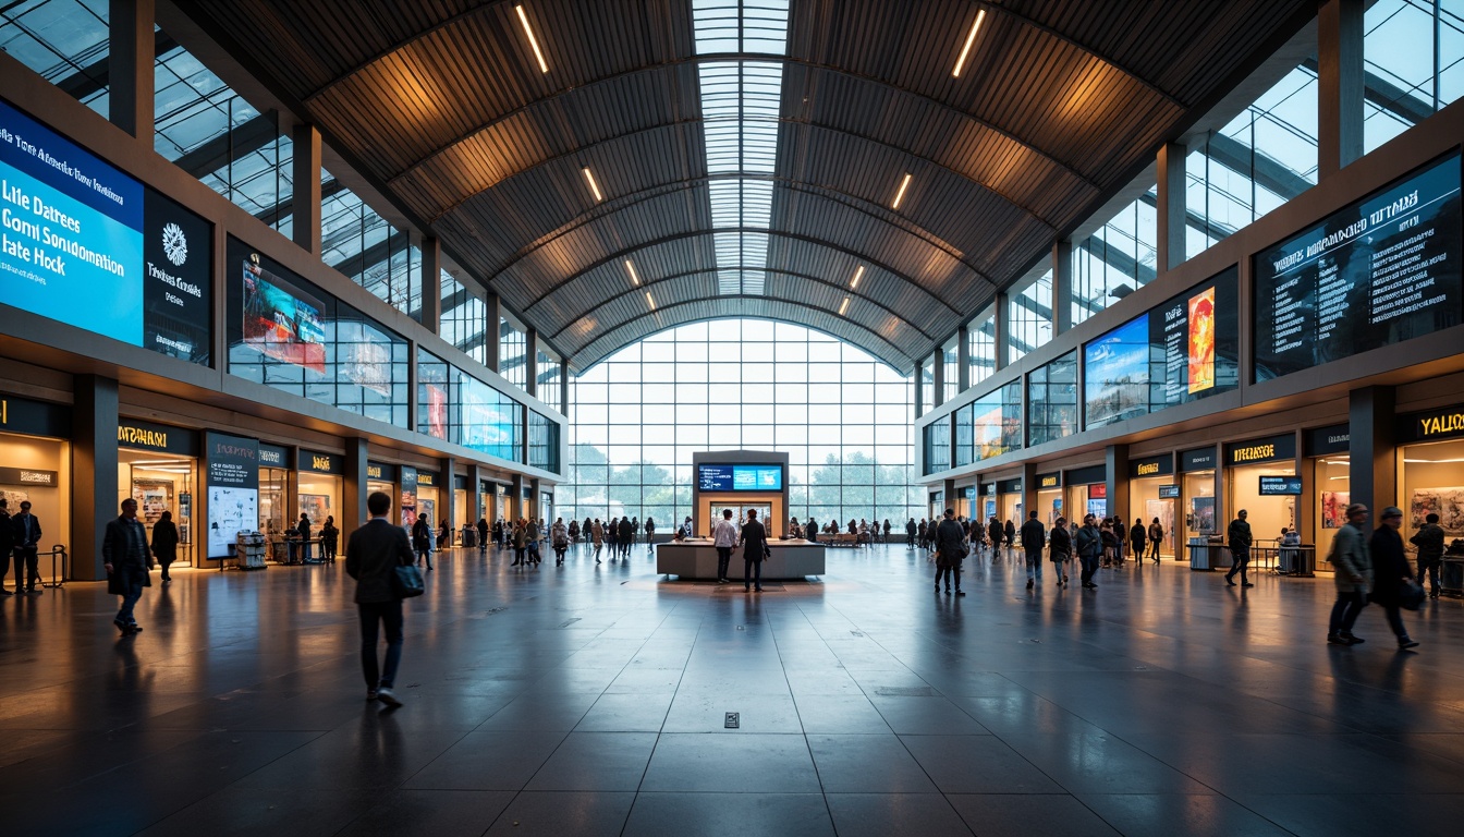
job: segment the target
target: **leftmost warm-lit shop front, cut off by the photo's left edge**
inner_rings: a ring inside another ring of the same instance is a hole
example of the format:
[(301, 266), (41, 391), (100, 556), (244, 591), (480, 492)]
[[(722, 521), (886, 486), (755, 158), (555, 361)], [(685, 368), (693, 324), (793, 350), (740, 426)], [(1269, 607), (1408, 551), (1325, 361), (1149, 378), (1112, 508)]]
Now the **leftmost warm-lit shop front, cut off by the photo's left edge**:
[[(64, 405), (0, 396), (0, 497), (9, 512), (31, 501), (45, 537), (40, 542), (41, 578), (50, 578), (45, 553), (66, 545), (72, 531), (72, 409)], [(119, 500), (120, 501), (120, 500)], [(60, 573), (60, 563), (57, 573)], [(9, 580), (9, 576), (7, 576)]]

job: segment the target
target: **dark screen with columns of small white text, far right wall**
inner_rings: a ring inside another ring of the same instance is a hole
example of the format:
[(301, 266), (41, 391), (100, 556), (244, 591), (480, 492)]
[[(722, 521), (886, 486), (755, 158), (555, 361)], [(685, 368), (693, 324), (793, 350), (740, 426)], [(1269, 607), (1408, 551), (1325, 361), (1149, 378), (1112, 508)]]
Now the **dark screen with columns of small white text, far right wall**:
[(1457, 325), (1460, 223), (1452, 154), (1259, 254), (1255, 378)]

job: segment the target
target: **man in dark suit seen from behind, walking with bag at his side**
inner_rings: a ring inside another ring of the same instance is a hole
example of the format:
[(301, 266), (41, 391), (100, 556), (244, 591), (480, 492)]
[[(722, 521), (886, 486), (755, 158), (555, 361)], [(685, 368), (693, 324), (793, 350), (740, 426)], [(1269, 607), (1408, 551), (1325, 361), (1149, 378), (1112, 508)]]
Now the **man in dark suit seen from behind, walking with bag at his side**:
[[(366, 699), (400, 707), (392, 692), (397, 665), (401, 663), (401, 600), (392, 586), (398, 566), (411, 566), (411, 541), (407, 531), (392, 526), (391, 495), (381, 491), (366, 498), (370, 520), (351, 532), (346, 542), (346, 572), (356, 579), (356, 610), (362, 623), (362, 673), (366, 676)], [(376, 632), (386, 626), (386, 664), (378, 677)]]

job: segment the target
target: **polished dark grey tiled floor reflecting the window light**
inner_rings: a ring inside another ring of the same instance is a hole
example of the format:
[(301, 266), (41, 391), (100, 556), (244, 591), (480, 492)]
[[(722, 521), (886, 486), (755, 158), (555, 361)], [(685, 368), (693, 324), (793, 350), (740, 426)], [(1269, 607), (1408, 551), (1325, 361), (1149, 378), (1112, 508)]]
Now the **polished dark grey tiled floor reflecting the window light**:
[[(1094, 592), (903, 545), (821, 582), (682, 583), (646, 547), (455, 551), (363, 701), (340, 566), (0, 601), (0, 834), (1457, 834), (1464, 611), (1165, 563)], [(739, 727), (726, 729), (738, 712)]]

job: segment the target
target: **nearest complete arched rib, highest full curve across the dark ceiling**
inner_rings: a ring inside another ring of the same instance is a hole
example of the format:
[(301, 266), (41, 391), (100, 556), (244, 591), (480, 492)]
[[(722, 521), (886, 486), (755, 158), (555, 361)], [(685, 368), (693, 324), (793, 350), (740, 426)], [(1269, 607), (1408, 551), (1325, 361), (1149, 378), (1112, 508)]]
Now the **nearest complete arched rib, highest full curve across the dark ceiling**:
[(572, 94), (580, 94), (580, 92), (589, 94), (589, 92), (593, 92), (594, 88), (597, 88), (599, 85), (603, 85), (603, 84), (608, 84), (608, 82), (621, 81), (621, 79), (625, 79), (625, 78), (632, 78), (632, 76), (637, 76), (637, 75), (641, 75), (641, 73), (659, 72), (659, 70), (665, 70), (665, 69), (678, 67), (678, 66), (682, 66), (682, 64), (698, 64), (698, 63), (704, 63), (704, 62), (732, 62), (732, 60), (755, 60), (755, 62), (766, 62), (766, 63), (777, 62), (777, 63), (783, 63), (783, 64), (796, 64), (796, 66), (801, 66), (801, 67), (808, 67), (808, 69), (821, 70), (821, 72), (833, 73), (833, 75), (849, 78), (849, 79), (855, 79), (855, 81), (868, 82), (868, 84), (878, 85), (881, 88), (895, 91), (895, 92), (897, 92), (900, 95), (908, 95), (908, 97), (916, 98), (921, 103), (928, 104), (930, 107), (940, 108), (943, 111), (952, 113), (952, 114), (955, 114), (959, 119), (971, 122), (971, 123), (974, 123), (974, 125), (976, 125), (979, 128), (984, 128), (987, 130), (996, 132), (996, 133), (1001, 135), (1003, 138), (1006, 138), (1007, 141), (1020, 145), (1022, 148), (1031, 151), (1032, 154), (1035, 154), (1035, 155), (1041, 157), (1042, 160), (1047, 160), (1053, 166), (1061, 169), (1066, 174), (1069, 174), (1072, 177), (1076, 177), (1085, 186), (1091, 188), (1094, 191), (1098, 191), (1098, 192), (1102, 191), (1102, 186), (1099, 186), (1098, 183), (1094, 183), (1091, 179), (1088, 179), (1086, 174), (1083, 174), (1082, 172), (1079, 172), (1078, 169), (1075, 169), (1067, 161), (1054, 157), (1050, 151), (1047, 151), (1047, 150), (1035, 145), (1032, 141), (1025, 139), (1022, 136), (1017, 136), (1016, 133), (1012, 133), (1010, 130), (1007, 130), (1006, 128), (1001, 128), (1000, 125), (997, 125), (994, 122), (988, 122), (985, 119), (981, 119), (979, 116), (971, 114), (971, 113), (968, 113), (968, 111), (965, 111), (965, 110), (962, 110), (962, 108), (959, 108), (959, 107), (956, 107), (953, 104), (949, 104), (949, 103), (941, 101), (938, 98), (934, 98), (931, 95), (927, 95), (927, 94), (922, 94), (922, 92), (916, 92), (914, 89), (909, 89), (909, 88), (900, 86), (897, 84), (893, 84), (890, 81), (881, 79), (878, 76), (873, 76), (873, 75), (868, 75), (868, 73), (858, 73), (858, 72), (854, 72), (854, 70), (849, 70), (849, 69), (845, 69), (845, 67), (839, 67), (839, 66), (834, 66), (834, 64), (824, 64), (824, 63), (811, 62), (811, 60), (805, 60), (805, 59), (795, 59), (795, 57), (789, 57), (789, 56), (761, 56), (761, 54), (744, 54), (744, 53), (723, 53), (723, 54), (704, 54), (704, 56), (684, 57), (684, 59), (676, 59), (673, 62), (662, 62), (659, 64), (647, 64), (647, 66), (635, 67), (635, 69), (631, 69), (631, 70), (622, 70), (622, 72), (618, 72), (618, 73), (610, 73), (608, 76), (597, 78), (597, 79), (594, 79), (591, 82), (587, 82), (587, 84), (583, 84), (580, 86), (564, 88), (561, 91), (556, 91), (556, 92), (552, 92), (549, 95), (536, 98), (536, 100), (529, 101), (526, 104), (521, 104), (521, 106), (518, 106), (518, 107), (515, 107), (512, 110), (505, 110), (504, 113), (498, 114), (492, 120), (489, 120), (489, 122), (486, 122), (483, 125), (479, 125), (477, 128), (468, 129), (461, 136), (457, 136), (457, 138), (445, 142), (444, 145), (441, 145), (438, 148), (433, 148), (432, 151), (427, 151), (423, 157), (414, 160), (406, 169), (403, 169), (401, 172), (398, 172), (397, 174), (394, 174), (392, 176), (392, 182), (397, 180), (398, 177), (404, 176), (404, 174), (408, 174), (408, 173), (420, 169), (422, 166), (426, 166), (427, 163), (430, 163), (432, 160), (441, 157), (442, 154), (447, 154), (452, 148), (457, 148), (458, 145), (463, 145), (464, 142), (468, 142), (468, 141), (474, 139), (476, 136), (479, 136), (482, 133), (493, 130), (495, 128), (499, 126), (499, 123), (502, 123), (502, 122), (505, 122), (508, 119), (517, 117), (517, 116), (520, 116), (523, 113), (527, 113), (527, 111), (530, 111), (530, 110), (533, 110), (533, 108), (536, 108), (536, 107), (539, 107), (542, 104), (552, 103), (552, 101), (556, 101), (559, 98), (564, 98), (564, 97), (568, 97), (568, 95), (572, 95)]

